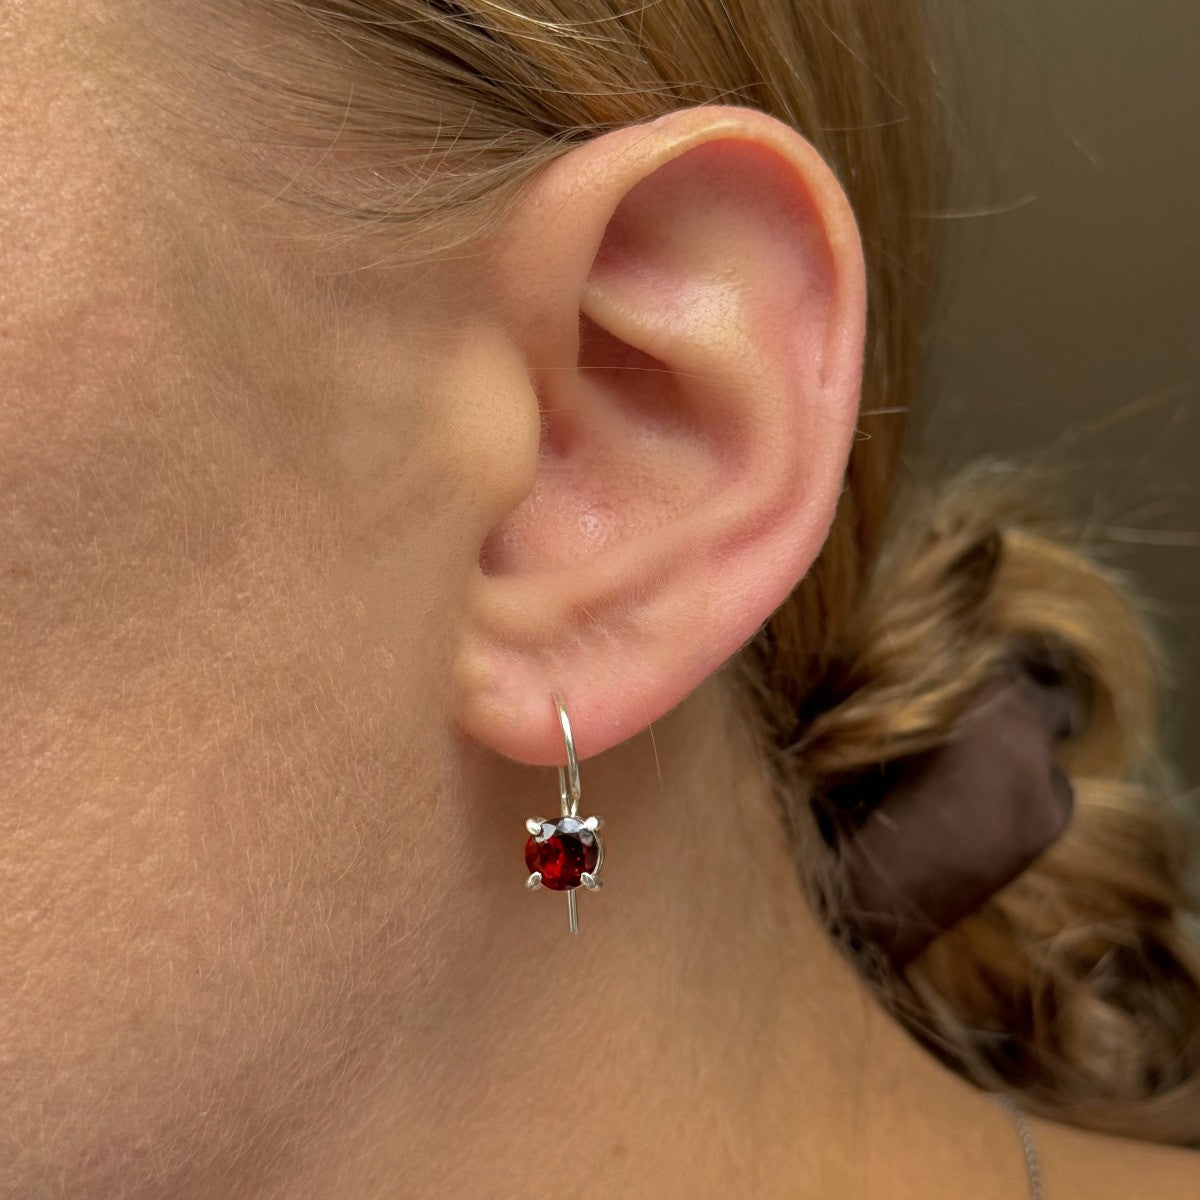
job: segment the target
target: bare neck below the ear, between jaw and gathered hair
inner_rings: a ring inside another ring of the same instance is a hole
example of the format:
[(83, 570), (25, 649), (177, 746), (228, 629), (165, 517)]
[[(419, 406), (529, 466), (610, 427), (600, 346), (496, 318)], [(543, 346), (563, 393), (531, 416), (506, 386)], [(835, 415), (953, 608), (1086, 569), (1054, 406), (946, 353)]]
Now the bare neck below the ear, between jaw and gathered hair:
[(653, 739), (582, 763), (606, 859), (577, 935), (562, 894), (522, 887), (523, 822), (557, 815), (553, 773), (533, 794), (527, 769), (467, 766), (467, 796), (505, 799), (424, 1015), (372, 1052), (271, 1195), (900, 1196), (977, 1168), (972, 1194), (1025, 1194), (1007, 1116), (910, 1039), (820, 928), (730, 728), (702, 689)]

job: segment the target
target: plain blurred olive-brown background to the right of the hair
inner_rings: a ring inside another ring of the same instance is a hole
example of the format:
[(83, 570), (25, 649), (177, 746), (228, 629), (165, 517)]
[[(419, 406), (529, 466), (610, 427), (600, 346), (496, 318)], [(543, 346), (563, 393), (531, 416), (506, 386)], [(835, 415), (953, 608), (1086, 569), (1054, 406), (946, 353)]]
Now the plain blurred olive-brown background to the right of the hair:
[(948, 7), (962, 162), (918, 452), (1072, 467), (1072, 514), (1166, 644), (1200, 814), (1200, 4)]

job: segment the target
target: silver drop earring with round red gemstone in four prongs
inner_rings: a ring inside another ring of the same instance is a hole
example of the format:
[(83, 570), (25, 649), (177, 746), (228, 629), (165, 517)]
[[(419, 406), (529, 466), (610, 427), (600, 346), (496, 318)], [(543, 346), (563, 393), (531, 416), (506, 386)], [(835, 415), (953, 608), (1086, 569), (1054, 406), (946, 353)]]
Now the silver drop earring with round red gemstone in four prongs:
[(533, 835), (526, 842), (526, 866), (529, 878), (526, 887), (530, 892), (546, 887), (566, 893), (566, 914), (571, 932), (580, 931), (580, 911), (575, 892), (582, 883), (589, 892), (600, 887), (596, 877), (604, 862), (604, 846), (596, 830), (604, 824), (602, 817), (580, 820), (580, 761), (575, 757), (575, 739), (571, 722), (566, 716), (566, 704), (559, 692), (554, 692), (558, 724), (563, 727), (566, 743), (566, 766), (558, 768), (558, 793), (563, 802), (563, 815), (557, 821), (530, 817), (526, 829)]

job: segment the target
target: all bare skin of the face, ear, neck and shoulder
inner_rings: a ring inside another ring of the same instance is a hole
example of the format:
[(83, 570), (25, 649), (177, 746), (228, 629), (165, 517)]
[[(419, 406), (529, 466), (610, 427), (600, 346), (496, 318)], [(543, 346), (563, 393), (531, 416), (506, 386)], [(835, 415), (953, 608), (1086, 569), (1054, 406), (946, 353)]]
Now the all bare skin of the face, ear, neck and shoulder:
[[(1024, 1195), (808, 911), (719, 673), (853, 426), (823, 164), (677, 114), (382, 268), (155, 137), (127, 16), (0, 35), (0, 1194)], [(650, 353), (678, 425), (604, 370)], [(554, 686), (606, 820), (578, 937), (522, 887)], [(1032, 1124), (1048, 1195), (1184, 1194)]]

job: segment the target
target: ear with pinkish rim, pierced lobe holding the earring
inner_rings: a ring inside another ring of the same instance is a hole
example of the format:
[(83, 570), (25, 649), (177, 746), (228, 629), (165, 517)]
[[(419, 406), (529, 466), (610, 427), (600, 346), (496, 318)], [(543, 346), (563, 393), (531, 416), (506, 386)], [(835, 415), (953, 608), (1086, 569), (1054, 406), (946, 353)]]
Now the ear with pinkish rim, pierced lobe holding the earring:
[(814, 148), (698, 107), (553, 162), (504, 226), (500, 318), (540, 445), (480, 547), (455, 715), (560, 763), (644, 730), (787, 598), (833, 521), (865, 280)]

